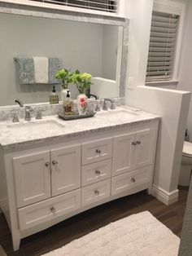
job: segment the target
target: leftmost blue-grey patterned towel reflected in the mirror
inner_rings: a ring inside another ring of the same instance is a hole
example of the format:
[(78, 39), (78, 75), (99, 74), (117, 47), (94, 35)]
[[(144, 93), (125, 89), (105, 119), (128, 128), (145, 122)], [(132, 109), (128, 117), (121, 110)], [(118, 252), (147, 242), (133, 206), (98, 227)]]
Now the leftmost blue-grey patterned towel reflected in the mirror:
[(33, 58), (14, 58), (18, 64), (20, 84), (34, 84), (34, 61)]

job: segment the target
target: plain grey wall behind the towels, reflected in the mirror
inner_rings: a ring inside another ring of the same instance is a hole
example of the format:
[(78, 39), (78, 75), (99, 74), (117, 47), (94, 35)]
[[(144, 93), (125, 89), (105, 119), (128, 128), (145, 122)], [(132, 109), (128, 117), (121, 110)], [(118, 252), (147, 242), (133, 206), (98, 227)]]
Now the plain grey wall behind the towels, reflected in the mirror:
[[(0, 14), (0, 105), (49, 100), (50, 85), (20, 85), (13, 57), (46, 56), (63, 59), (65, 68), (102, 74), (103, 25)], [(60, 90), (60, 86), (58, 86)]]

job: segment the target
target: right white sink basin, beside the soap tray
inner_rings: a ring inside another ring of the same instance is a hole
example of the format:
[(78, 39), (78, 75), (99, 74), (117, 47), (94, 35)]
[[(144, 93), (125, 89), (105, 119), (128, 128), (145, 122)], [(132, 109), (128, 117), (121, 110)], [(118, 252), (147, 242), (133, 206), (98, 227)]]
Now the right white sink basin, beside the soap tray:
[(131, 118), (131, 117), (139, 117), (141, 114), (138, 112), (130, 111), (129, 109), (114, 109), (108, 111), (102, 111), (97, 113), (98, 117), (105, 118)]

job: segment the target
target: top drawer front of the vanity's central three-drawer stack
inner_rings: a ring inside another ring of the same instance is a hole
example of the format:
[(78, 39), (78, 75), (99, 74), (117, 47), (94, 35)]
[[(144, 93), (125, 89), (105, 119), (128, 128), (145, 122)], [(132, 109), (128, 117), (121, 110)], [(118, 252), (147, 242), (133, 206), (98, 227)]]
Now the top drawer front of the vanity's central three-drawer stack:
[(103, 161), (112, 157), (112, 138), (82, 144), (82, 165)]

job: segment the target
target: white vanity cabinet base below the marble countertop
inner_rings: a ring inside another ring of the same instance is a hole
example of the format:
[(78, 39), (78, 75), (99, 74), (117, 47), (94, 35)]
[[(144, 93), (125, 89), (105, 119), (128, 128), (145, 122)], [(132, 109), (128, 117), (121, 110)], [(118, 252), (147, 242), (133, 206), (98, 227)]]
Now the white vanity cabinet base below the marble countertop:
[[(159, 120), (2, 151), (14, 249), (82, 211), (151, 191)], [(8, 210), (7, 210), (8, 209)]]

